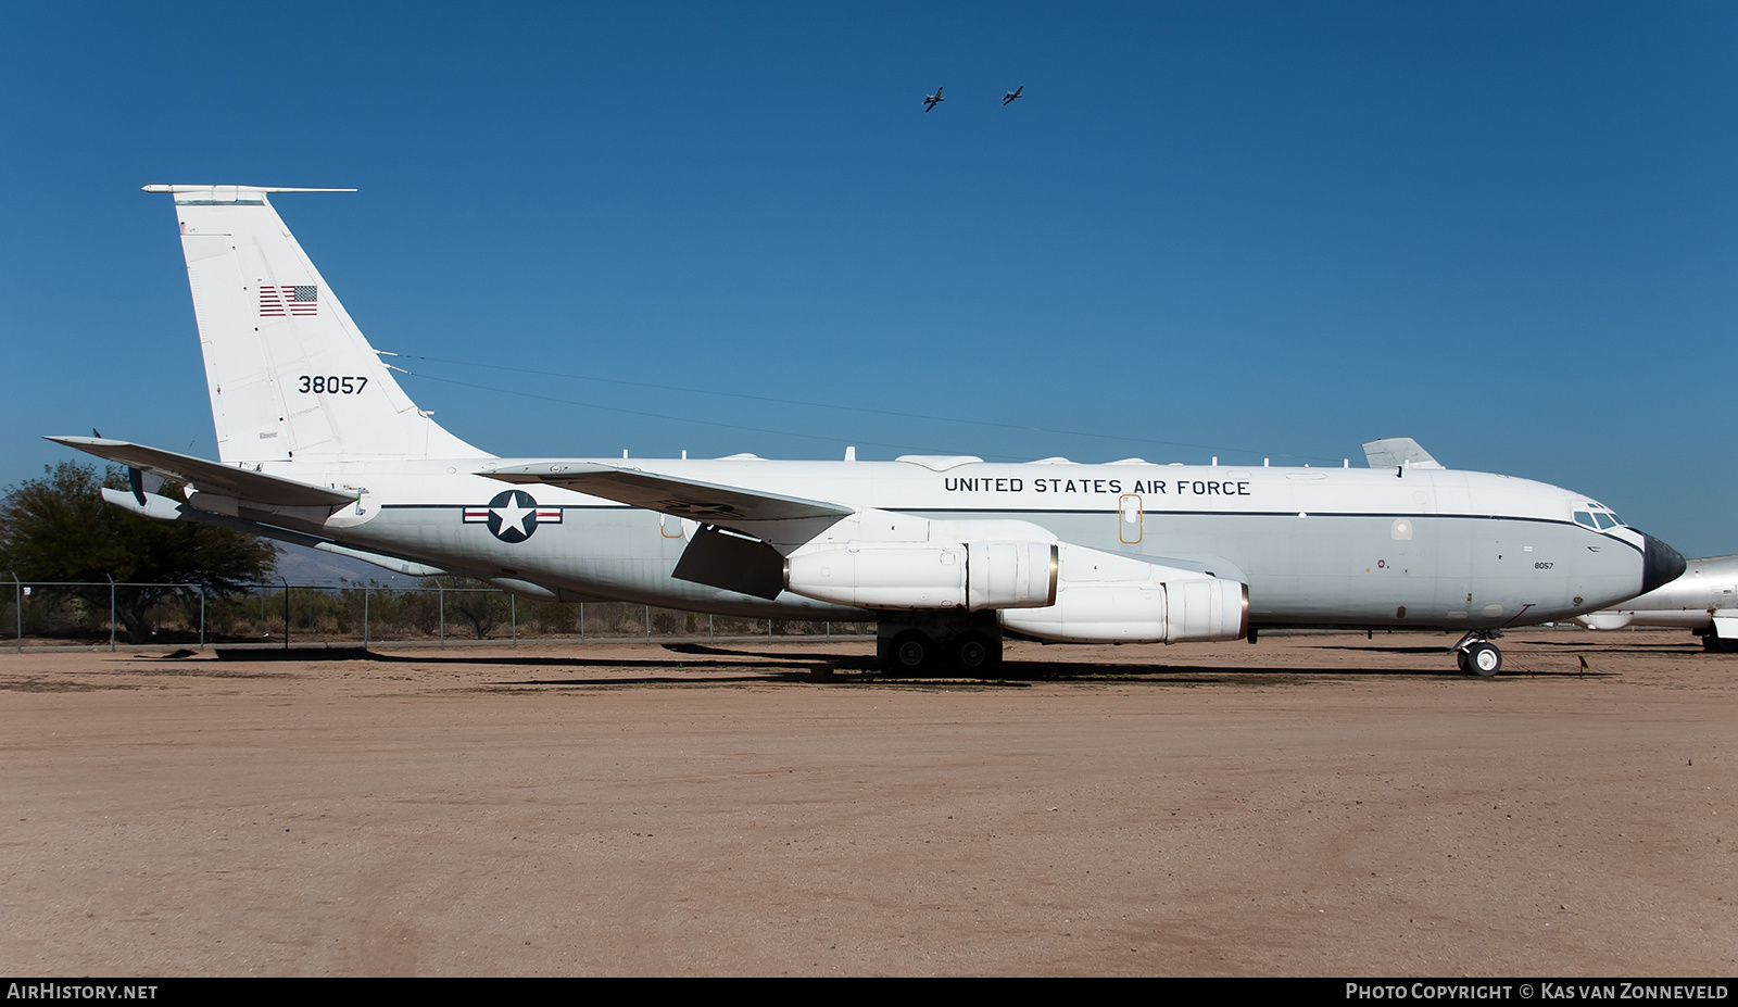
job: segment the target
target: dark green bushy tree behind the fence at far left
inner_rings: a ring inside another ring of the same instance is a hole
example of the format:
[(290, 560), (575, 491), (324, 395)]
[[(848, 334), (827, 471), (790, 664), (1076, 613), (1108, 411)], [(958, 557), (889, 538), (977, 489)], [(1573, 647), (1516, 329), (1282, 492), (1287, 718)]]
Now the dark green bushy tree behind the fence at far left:
[[(80, 581), (96, 586), (43, 588), (49, 595), (109, 604), (109, 577), (141, 584), (115, 591), (115, 614), (127, 637), (149, 637), (149, 610), (163, 598), (200, 586), (233, 595), (269, 574), (278, 546), (247, 532), (193, 522), (160, 522), (103, 501), (103, 487), (125, 489), (125, 471), (63, 461), (42, 478), (7, 489), (0, 504), (0, 567), (21, 581)], [(182, 499), (165, 485), (162, 496)]]

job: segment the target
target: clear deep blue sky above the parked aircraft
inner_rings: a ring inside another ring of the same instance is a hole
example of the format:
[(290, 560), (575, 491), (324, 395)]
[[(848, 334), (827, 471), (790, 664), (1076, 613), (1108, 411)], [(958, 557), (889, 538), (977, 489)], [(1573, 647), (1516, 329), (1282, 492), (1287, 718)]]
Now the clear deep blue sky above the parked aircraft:
[(1738, 551), (1738, 5), (7, 10), (3, 483), (214, 456), (141, 184), (356, 186), (275, 203), (499, 454), (1410, 435)]

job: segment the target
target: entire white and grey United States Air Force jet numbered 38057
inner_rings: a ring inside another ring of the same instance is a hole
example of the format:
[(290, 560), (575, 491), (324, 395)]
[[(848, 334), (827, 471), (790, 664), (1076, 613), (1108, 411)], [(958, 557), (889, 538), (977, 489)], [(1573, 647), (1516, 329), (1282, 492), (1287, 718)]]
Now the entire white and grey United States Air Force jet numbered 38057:
[[(174, 197), (219, 461), (52, 440), (129, 466), (132, 492), (104, 496), (155, 518), (532, 598), (874, 619), (895, 670), (984, 670), (1008, 635), (1253, 642), (1343, 626), (1460, 631), (1462, 670), (1495, 675), (1502, 630), (1684, 570), (1580, 494), (1444, 470), (1410, 438), (1373, 442), (1359, 470), (497, 457), (410, 402), (268, 200), (315, 190), (146, 191)], [(149, 492), (155, 478), (186, 501)]]

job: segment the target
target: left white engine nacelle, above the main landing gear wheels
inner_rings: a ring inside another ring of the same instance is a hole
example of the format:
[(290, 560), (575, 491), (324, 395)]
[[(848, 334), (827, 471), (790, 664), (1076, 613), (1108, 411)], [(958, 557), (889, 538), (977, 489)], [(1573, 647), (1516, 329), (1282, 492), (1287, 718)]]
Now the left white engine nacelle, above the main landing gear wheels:
[(784, 562), (789, 591), (860, 609), (1038, 609), (1057, 598), (1053, 543), (841, 543)]

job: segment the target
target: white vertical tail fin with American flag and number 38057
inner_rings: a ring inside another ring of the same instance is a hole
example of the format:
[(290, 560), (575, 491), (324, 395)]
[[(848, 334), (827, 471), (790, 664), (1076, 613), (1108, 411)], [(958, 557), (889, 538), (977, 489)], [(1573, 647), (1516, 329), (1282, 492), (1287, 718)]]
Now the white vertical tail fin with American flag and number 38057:
[(410, 402), (266, 200), (353, 190), (144, 191), (176, 197), (219, 459), (487, 457)]

